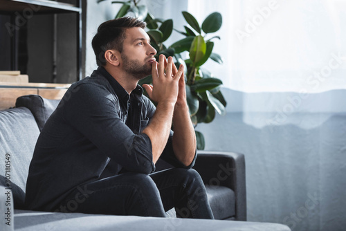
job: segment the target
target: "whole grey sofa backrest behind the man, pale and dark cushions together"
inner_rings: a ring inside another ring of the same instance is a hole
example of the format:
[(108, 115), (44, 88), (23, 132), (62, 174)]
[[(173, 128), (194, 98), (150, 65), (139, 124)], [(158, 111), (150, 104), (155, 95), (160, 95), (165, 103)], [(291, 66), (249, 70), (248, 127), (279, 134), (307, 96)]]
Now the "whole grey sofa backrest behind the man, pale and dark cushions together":
[(16, 108), (0, 111), (0, 185), (12, 189), (16, 209), (23, 209), (28, 169), (39, 132), (60, 100), (40, 95), (17, 98)]

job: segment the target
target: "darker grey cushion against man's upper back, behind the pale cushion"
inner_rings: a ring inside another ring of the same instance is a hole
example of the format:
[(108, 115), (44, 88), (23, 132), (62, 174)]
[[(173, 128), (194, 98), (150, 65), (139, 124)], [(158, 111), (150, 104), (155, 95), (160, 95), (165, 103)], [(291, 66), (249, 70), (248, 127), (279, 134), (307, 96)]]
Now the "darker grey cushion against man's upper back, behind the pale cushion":
[(40, 95), (23, 95), (17, 98), (16, 107), (26, 107), (33, 113), (35, 120), (42, 131), (49, 116), (57, 108), (60, 100), (47, 100)]

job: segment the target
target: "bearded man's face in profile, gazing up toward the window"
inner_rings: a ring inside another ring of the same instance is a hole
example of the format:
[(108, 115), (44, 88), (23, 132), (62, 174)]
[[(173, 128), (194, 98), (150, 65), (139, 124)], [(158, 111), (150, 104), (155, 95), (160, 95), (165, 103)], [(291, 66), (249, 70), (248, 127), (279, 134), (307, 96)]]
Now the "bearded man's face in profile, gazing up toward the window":
[(126, 30), (121, 59), (124, 71), (140, 80), (152, 73), (156, 50), (149, 44), (149, 36), (139, 27)]

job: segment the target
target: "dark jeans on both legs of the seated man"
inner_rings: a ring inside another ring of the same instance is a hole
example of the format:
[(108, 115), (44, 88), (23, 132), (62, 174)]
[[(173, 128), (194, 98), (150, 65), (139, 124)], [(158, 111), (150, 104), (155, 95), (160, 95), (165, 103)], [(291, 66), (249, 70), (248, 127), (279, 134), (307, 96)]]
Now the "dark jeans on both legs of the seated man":
[(128, 172), (78, 187), (58, 212), (214, 219), (206, 188), (194, 169), (173, 168), (154, 174)]

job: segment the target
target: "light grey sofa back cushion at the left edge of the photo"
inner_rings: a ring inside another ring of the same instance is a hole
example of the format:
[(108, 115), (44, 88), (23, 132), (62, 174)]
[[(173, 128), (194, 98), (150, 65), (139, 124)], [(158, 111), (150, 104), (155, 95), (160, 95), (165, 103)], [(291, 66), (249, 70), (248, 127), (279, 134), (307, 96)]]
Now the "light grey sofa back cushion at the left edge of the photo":
[(39, 128), (29, 109), (0, 111), (0, 185), (8, 187), (6, 180), (10, 181), (15, 208), (24, 207), (26, 178), (38, 136)]

